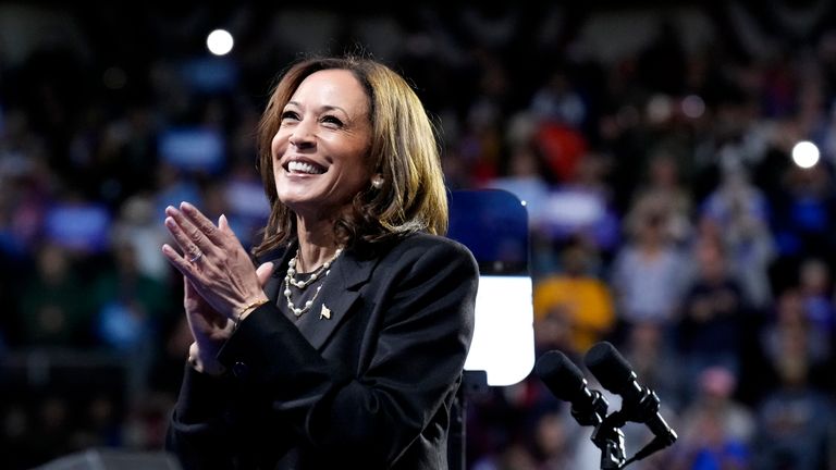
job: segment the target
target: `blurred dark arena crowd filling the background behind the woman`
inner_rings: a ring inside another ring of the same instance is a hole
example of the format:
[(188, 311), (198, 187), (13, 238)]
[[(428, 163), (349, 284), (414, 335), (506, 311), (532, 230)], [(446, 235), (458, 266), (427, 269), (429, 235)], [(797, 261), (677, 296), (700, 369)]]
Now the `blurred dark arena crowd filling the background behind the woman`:
[[(163, 208), (251, 243), (272, 79), (364, 50), (414, 82), (451, 189), (526, 201), (536, 355), (608, 341), (661, 397), (679, 438), (631, 468), (836, 469), (836, 5), (762, 3), (0, 5), (3, 468), (161, 447), (190, 343)], [(531, 375), (468, 396), (467, 467), (600, 468), (592, 431)]]

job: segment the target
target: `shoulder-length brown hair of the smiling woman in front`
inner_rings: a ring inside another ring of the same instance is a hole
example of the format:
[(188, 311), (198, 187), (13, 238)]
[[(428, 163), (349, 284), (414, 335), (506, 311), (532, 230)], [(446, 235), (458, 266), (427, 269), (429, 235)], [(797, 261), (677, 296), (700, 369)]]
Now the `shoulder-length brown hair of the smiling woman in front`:
[(296, 214), (278, 197), (271, 141), (281, 115), (299, 84), (322, 70), (352, 72), (369, 98), (371, 141), (366, 160), (383, 185), (358, 193), (352, 210), (334, 223), (340, 245), (374, 244), (416, 231), (443, 235), (447, 195), (441, 170), (437, 128), (409, 84), (389, 66), (359, 55), (303, 59), (290, 66), (272, 90), (258, 125), (258, 169), (270, 217), (255, 255), (287, 245), (296, 237)]

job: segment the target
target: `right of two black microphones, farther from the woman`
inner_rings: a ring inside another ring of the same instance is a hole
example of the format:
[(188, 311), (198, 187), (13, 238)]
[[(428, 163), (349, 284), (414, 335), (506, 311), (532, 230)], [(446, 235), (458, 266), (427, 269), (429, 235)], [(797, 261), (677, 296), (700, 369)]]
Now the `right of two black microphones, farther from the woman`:
[[(601, 386), (622, 396), (625, 419), (644, 423), (655, 436), (648, 448), (639, 453), (641, 457), (676, 441), (676, 432), (659, 413), (659, 397), (650, 388), (639, 385), (632, 367), (612, 344), (601, 342), (592, 346), (585, 356), (585, 362)], [(637, 457), (640, 458), (639, 455)]]

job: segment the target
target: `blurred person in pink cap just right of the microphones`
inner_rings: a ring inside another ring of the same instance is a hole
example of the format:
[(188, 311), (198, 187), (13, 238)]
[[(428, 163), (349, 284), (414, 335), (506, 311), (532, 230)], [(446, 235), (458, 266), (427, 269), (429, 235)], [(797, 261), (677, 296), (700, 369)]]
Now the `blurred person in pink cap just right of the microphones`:
[(713, 366), (699, 376), (698, 394), (681, 413), (672, 469), (749, 469), (754, 413), (734, 398), (733, 371)]

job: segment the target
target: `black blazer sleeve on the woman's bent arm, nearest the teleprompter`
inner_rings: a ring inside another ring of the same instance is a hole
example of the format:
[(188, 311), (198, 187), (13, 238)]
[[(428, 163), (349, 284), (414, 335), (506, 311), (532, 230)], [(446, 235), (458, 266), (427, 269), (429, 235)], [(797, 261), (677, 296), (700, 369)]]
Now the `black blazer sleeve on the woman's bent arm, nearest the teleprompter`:
[(460, 382), (478, 280), (463, 245), (407, 238), (357, 287), (372, 323), (356, 338), (371, 349), (358, 369), (323, 357), (273, 305), (247, 317), (219, 358), (233, 371), (247, 364), (244, 380), (271, 404), (262, 419), (287, 424), (297, 446), (389, 467), (428, 428), (446, 426), (433, 420)]

